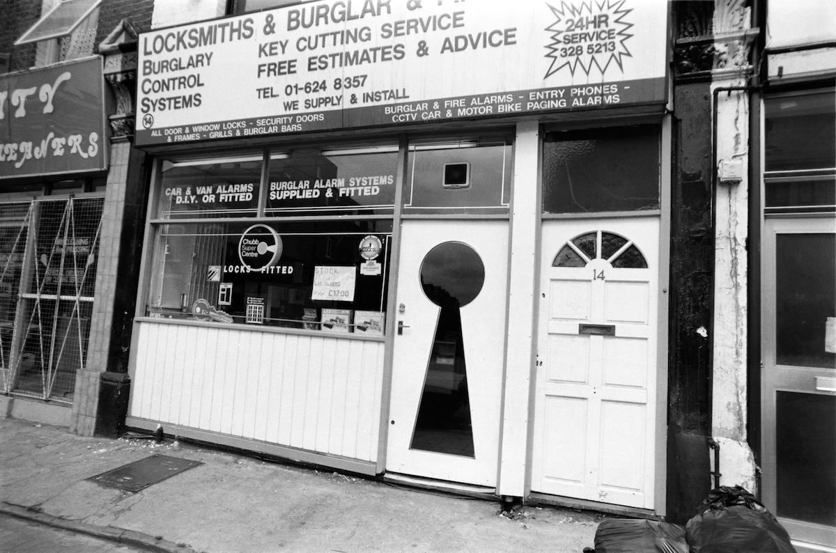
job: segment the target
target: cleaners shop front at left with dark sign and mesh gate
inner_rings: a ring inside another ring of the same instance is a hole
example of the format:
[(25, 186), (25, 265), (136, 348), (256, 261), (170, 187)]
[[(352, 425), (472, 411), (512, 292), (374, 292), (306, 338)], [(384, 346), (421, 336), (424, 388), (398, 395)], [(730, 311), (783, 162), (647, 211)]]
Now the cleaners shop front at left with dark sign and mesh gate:
[(0, 393), (66, 421), (96, 297), (104, 104), (99, 57), (0, 76)]

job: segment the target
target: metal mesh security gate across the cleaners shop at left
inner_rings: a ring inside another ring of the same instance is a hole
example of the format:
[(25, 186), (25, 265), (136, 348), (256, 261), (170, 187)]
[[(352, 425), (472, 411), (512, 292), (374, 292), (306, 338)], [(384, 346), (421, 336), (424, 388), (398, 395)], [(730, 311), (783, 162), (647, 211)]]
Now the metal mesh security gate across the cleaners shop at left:
[(72, 402), (104, 198), (0, 204), (0, 391)]

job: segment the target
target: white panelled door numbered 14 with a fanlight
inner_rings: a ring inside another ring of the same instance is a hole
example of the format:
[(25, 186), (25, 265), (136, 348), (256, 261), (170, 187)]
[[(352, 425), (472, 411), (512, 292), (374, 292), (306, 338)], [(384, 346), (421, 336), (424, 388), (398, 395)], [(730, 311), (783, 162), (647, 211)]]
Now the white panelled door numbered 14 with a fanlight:
[(532, 490), (652, 509), (659, 221), (544, 221)]

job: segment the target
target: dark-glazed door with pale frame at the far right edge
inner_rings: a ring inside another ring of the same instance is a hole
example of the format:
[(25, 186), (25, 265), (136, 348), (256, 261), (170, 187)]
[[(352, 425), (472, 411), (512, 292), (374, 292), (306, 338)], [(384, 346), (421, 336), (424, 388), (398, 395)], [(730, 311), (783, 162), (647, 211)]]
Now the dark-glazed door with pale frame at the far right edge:
[(763, 500), (836, 548), (836, 220), (767, 219), (763, 242)]

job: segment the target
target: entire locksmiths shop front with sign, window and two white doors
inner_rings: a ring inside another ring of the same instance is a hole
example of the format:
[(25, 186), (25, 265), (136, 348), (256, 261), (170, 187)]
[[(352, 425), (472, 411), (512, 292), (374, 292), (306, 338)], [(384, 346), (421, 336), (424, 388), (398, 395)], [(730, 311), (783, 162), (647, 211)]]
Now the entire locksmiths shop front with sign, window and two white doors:
[(562, 6), (140, 34), (127, 424), (663, 513), (668, 6)]

